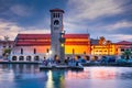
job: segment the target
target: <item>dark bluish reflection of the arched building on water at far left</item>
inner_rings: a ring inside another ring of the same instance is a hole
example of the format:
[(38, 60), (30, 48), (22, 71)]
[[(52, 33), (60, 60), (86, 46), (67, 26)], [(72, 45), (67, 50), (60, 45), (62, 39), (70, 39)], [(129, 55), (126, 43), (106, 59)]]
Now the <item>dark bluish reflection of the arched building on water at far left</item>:
[(1, 80), (19, 80), (28, 78), (41, 78), (44, 74), (40, 74), (38, 65), (28, 64), (1, 64)]

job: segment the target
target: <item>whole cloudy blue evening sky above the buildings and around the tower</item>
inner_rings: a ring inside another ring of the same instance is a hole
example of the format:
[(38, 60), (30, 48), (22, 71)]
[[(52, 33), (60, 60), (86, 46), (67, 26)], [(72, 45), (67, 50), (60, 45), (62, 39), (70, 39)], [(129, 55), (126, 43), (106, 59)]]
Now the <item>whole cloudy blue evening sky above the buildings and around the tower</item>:
[(132, 42), (132, 0), (0, 0), (0, 40), (18, 33), (50, 33), (50, 10), (64, 13), (66, 33)]

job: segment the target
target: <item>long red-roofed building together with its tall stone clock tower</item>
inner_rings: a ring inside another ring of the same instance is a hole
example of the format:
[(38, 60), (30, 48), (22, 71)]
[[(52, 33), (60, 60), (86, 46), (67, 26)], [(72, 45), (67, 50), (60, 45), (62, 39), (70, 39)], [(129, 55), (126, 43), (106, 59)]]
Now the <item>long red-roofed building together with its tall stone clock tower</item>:
[(89, 34), (65, 34), (63, 38), (66, 38), (66, 42), (62, 44), (64, 11), (53, 9), (50, 12), (51, 34), (18, 34), (11, 52), (11, 61), (38, 62), (45, 57), (54, 58), (56, 55), (58, 58), (65, 55), (90, 55)]

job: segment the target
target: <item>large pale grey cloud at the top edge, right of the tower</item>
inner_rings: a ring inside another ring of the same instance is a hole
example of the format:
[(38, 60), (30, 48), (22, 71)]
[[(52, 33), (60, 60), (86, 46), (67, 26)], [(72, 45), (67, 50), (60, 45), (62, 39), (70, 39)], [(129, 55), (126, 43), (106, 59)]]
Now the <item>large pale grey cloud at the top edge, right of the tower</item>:
[(123, 10), (120, 2), (114, 0), (69, 0), (68, 7), (72, 9), (70, 14), (76, 19), (94, 20), (99, 16), (114, 15)]

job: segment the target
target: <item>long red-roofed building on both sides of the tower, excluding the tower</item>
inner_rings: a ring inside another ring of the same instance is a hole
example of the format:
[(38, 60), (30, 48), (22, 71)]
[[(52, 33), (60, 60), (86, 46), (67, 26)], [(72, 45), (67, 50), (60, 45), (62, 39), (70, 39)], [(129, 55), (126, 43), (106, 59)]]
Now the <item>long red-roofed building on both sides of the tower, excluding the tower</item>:
[[(89, 34), (66, 34), (66, 55), (90, 55)], [(40, 61), (51, 57), (51, 34), (18, 34), (11, 53), (12, 61)]]

